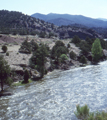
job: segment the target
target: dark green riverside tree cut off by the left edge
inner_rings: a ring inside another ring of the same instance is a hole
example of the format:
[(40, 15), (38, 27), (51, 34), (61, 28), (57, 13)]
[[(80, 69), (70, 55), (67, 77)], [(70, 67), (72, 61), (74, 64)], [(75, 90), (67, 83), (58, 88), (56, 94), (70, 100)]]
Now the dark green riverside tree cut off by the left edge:
[(10, 75), (10, 67), (8, 63), (4, 60), (3, 56), (0, 56), (0, 84), (1, 84), (1, 91), (3, 91), (4, 83), (9, 83), (8, 80)]

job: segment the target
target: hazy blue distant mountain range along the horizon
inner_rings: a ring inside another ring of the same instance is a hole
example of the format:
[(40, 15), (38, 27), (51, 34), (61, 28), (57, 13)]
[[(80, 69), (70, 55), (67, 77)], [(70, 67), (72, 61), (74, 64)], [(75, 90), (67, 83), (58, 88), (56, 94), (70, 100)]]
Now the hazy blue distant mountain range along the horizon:
[[(54, 13), (43, 15), (43, 14), (35, 13), (31, 16), (35, 18), (40, 18), (47, 22), (52, 22), (53, 24), (56, 24), (57, 19), (62, 18), (62, 19), (66, 19), (67, 21), (70, 20), (76, 24), (85, 25), (87, 27), (103, 27), (103, 28), (107, 27), (107, 21), (103, 21), (99, 19), (92, 19), (92, 18), (85, 17), (82, 15), (54, 14)], [(64, 22), (64, 23), (62, 22), (60, 24), (66, 25), (65, 23), (67, 22)], [(60, 26), (60, 24), (59, 25), (57, 24), (57, 25)]]

